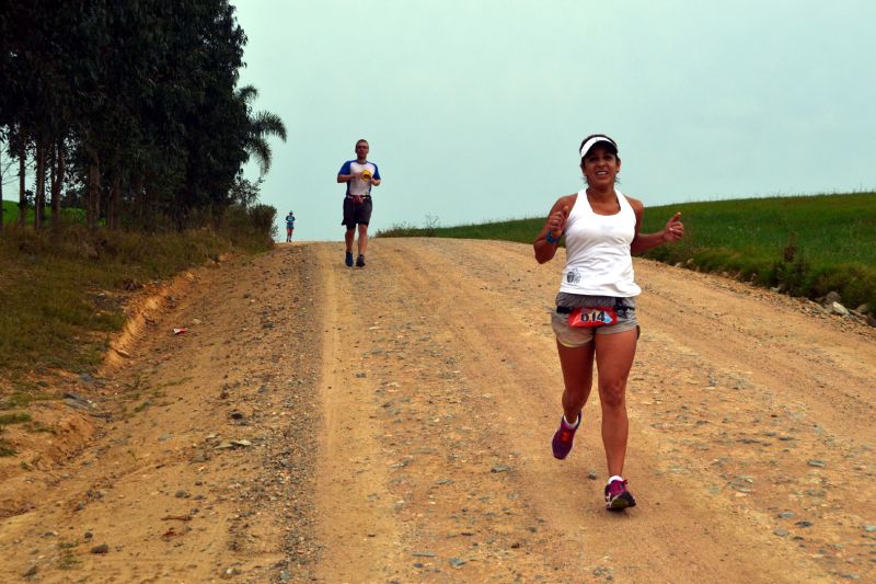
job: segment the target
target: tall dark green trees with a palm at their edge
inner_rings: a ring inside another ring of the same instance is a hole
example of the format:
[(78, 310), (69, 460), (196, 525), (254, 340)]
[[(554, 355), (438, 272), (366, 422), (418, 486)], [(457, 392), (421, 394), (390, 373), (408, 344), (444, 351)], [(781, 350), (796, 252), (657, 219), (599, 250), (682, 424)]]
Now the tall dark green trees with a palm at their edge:
[(228, 0), (0, 0), (0, 171), (18, 163), (19, 221), (30, 196), (37, 229), (46, 206), (53, 224), (76, 206), (90, 227), (154, 230), (253, 204), (261, 176), (242, 168), (252, 157), (267, 172), (267, 138), (286, 128), (238, 87), (234, 12)]

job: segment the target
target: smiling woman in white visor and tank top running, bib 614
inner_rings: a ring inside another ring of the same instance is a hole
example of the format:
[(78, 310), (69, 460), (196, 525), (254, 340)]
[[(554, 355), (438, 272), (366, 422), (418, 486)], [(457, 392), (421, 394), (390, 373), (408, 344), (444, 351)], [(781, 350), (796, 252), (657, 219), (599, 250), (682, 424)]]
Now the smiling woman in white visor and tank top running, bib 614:
[(635, 299), (641, 289), (632, 254), (680, 240), (684, 226), (677, 213), (662, 231), (639, 233), (644, 206), (614, 187), (621, 171), (618, 145), (593, 135), (578, 150), (587, 187), (554, 203), (533, 243), (535, 259), (543, 264), (553, 259), (560, 239), (566, 240), (566, 265), (551, 318), (565, 385), (563, 417), (552, 448), (561, 460), (572, 450), (596, 362), (609, 473), (606, 507), (623, 509), (636, 504), (623, 479), (630, 428), (626, 379), (639, 333)]

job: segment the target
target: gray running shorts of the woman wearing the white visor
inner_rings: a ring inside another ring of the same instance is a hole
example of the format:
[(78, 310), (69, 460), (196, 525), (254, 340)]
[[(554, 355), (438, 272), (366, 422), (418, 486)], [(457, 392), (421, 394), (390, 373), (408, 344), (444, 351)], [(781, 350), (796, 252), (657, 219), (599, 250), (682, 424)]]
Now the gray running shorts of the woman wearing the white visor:
[[(556, 340), (561, 345), (567, 347), (584, 346), (593, 340), (597, 334), (622, 333), (632, 329), (638, 329), (636, 320), (636, 299), (635, 298), (614, 298), (611, 296), (583, 296), (579, 294), (560, 293), (556, 295), (556, 306), (563, 308), (597, 307), (610, 306), (618, 314), (618, 322), (614, 324), (603, 324), (602, 327), (569, 327), (568, 313), (551, 313), (551, 327), (556, 334)], [(636, 333), (638, 336), (638, 333)]]

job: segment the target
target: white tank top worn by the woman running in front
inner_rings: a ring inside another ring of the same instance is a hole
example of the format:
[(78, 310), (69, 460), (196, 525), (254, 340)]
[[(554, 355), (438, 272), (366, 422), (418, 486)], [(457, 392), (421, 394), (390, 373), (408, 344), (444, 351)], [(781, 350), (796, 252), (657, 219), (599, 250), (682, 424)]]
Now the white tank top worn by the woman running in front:
[(578, 192), (566, 221), (566, 267), (560, 291), (620, 298), (642, 293), (630, 254), (636, 215), (620, 191), (615, 188), (614, 194), (621, 210), (597, 215), (587, 201), (587, 190)]

